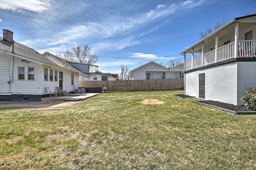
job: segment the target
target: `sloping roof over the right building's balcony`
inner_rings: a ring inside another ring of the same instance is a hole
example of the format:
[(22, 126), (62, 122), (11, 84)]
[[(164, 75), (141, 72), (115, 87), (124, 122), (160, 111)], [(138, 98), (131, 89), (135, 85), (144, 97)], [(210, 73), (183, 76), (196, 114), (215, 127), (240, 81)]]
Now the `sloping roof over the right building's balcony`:
[[(230, 26), (230, 25), (232, 25), (232, 24), (234, 24), (236, 22), (240, 22), (240, 21), (242, 22), (242, 20), (244, 20), (244, 19), (248, 19), (248, 18), (255, 17), (255, 16), (256, 16), (256, 14), (252, 14), (252, 15), (247, 15), (247, 16), (241, 16), (241, 17), (238, 17), (238, 18), (234, 18), (233, 20), (231, 20), (230, 22), (224, 24), (222, 27), (218, 28), (217, 30), (215, 30), (214, 32), (209, 34), (208, 36), (206, 36), (206, 37), (202, 38), (201, 40), (199, 40), (198, 42), (194, 43), (193, 45), (191, 45), (190, 47), (188, 47), (187, 49), (182, 51), (180, 54), (187, 53), (192, 48), (196, 47), (198, 44), (208, 40), (209, 38), (211, 38), (212, 36), (215, 36), (216, 34), (219, 34), (224, 29), (226, 29), (228, 26)], [(254, 20), (246, 20), (246, 22), (255, 22), (255, 19)]]

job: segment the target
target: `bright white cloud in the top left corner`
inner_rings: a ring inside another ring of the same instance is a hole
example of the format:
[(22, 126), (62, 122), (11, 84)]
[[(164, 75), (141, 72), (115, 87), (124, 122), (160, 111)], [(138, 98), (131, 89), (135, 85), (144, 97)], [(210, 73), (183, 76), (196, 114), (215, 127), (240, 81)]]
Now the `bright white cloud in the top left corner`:
[(48, 1), (42, 0), (0, 0), (0, 9), (4, 10), (18, 10), (18, 12), (24, 13), (24, 10), (43, 12), (48, 9), (50, 4)]

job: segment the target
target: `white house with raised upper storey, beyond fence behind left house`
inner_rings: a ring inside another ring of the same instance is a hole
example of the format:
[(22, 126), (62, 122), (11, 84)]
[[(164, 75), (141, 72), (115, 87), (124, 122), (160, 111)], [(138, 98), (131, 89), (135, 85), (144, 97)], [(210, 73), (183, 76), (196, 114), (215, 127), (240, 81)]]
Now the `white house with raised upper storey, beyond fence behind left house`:
[(75, 67), (76, 69), (80, 70), (84, 73), (84, 75), (79, 77), (79, 81), (114, 81), (118, 80), (118, 74), (111, 74), (111, 73), (102, 73), (98, 71), (97, 65), (85, 64), (85, 63), (76, 63), (67, 61), (70, 65)]

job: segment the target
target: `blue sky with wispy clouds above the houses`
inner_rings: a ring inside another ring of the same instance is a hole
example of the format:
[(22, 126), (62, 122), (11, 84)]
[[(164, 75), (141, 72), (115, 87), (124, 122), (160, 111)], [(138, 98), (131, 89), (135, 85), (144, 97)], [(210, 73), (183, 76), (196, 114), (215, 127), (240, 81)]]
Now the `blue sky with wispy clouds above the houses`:
[(132, 70), (183, 60), (180, 52), (199, 40), (200, 30), (255, 14), (255, 6), (255, 0), (0, 0), (0, 28), (40, 53), (87, 44), (100, 71), (119, 73), (121, 64)]

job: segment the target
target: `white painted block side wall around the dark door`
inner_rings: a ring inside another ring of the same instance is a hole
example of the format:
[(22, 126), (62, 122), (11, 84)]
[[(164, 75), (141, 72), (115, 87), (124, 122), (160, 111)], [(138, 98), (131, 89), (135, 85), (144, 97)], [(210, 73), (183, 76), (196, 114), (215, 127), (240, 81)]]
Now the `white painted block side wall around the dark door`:
[(237, 105), (237, 64), (186, 73), (186, 95), (199, 97), (199, 74), (205, 73), (205, 99)]

